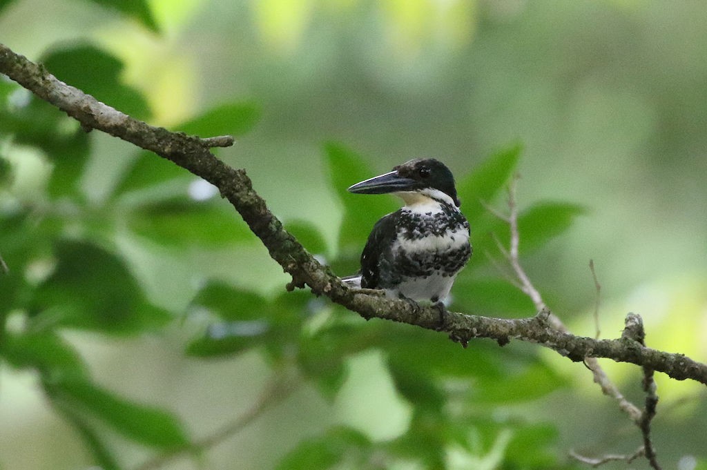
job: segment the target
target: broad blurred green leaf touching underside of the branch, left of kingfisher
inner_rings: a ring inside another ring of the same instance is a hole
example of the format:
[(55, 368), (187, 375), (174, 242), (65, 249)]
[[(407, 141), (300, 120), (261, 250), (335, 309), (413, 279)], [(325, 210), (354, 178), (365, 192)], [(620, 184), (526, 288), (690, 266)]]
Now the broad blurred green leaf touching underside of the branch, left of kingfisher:
[(168, 247), (255, 242), (243, 219), (225, 207), (222, 201), (159, 201), (132, 211), (128, 226), (137, 235)]

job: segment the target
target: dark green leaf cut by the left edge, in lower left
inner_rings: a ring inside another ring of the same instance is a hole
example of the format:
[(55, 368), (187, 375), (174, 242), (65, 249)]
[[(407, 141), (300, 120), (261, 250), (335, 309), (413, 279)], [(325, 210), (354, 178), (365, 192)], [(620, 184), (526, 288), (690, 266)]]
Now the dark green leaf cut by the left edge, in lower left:
[(57, 380), (88, 380), (81, 356), (53, 331), (7, 332), (0, 346), (2, 356), (16, 368), (33, 368)]

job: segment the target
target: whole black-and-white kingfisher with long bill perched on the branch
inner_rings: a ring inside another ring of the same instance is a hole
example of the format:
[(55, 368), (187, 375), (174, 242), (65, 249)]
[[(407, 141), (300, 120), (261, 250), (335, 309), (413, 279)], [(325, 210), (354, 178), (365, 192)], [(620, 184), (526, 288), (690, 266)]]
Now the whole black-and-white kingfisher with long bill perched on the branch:
[(387, 297), (441, 302), (472, 255), (469, 222), (459, 210), (454, 176), (433, 158), (409, 160), (349, 187), (356, 194), (399, 196), (405, 205), (373, 226), (350, 286)]

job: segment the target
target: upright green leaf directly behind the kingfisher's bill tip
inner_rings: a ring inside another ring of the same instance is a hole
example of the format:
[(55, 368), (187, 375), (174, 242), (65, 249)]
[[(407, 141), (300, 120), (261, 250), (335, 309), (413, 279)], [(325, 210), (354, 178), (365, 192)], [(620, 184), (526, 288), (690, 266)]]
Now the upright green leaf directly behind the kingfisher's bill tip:
[(376, 174), (368, 168), (361, 155), (350, 151), (337, 143), (326, 146), (329, 182), (334, 193), (344, 205), (344, 221), (339, 231), (339, 249), (344, 252), (360, 254), (366, 243), (366, 237), (379, 218), (395, 211), (397, 206), (391, 196), (364, 196), (351, 194), (346, 188), (357, 182), (374, 177)]

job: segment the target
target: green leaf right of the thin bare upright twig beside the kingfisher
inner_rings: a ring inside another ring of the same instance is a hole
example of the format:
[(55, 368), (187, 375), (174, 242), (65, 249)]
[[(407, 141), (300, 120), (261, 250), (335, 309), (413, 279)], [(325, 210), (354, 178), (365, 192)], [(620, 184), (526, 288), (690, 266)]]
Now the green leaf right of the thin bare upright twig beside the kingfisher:
[(527, 254), (542, 247), (570, 228), (575, 218), (585, 212), (583, 206), (566, 202), (534, 204), (518, 216), (520, 252)]

